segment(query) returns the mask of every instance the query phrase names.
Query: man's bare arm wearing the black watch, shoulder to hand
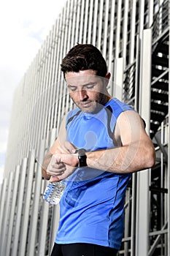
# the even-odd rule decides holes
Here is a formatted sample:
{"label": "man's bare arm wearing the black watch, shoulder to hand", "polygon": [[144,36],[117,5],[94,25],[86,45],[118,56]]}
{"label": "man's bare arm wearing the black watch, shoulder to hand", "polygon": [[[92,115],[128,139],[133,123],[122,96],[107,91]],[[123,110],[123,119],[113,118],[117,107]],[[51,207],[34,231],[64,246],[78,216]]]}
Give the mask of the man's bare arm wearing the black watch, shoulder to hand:
{"label": "man's bare arm wearing the black watch, shoulder to hand", "polygon": [[[155,148],[139,115],[131,110],[117,118],[115,140],[122,146],[87,152],[88,167],[112,173],[133,173],[155,164]],[[60,154],[61,161],[77,166],[77,154]]]}

